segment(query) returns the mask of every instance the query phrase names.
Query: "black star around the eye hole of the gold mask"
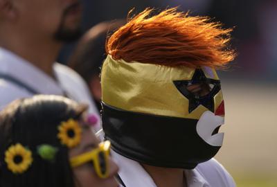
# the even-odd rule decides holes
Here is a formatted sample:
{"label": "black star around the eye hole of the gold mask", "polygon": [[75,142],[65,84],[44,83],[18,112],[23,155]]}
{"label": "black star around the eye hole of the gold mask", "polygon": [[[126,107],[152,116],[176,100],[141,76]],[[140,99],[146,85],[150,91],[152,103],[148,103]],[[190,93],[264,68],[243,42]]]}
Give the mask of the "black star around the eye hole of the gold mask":
{"label": "black star around the eye hole of the gold mask", "polygon": [[[203,105],[211,112],[215,111],[214,98],[215,95],[220,91],[220,80],[214,80],[206,78],[202,69],[195,69],[193,78],[191,80],[174,80],[175,87],[189,100],[188,112],[193,112],[199,105]],[[211,85],[211,90],[205,96],[197,96],[192,92],[188,91],[187,87],[191,84],[202,84],[206,83]]]}

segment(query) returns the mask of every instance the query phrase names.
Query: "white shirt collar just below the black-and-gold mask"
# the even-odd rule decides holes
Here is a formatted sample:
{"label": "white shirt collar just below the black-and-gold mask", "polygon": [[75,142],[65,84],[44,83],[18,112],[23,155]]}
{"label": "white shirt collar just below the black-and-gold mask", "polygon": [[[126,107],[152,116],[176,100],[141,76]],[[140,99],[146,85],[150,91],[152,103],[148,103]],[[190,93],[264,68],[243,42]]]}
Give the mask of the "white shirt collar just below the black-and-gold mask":
{"label": "white shirt collar just below the black-and-gold mask", "polygon": [[[118,175],[123,180],[125,186],[129,187],[157,187],[143,167],[136,161],[127,159],[122,155],[111,151],[113,159],[118,164],[120,170]],[[209,187],[208,182],[195,168],[194,170],[184,170],[188,187]]]}

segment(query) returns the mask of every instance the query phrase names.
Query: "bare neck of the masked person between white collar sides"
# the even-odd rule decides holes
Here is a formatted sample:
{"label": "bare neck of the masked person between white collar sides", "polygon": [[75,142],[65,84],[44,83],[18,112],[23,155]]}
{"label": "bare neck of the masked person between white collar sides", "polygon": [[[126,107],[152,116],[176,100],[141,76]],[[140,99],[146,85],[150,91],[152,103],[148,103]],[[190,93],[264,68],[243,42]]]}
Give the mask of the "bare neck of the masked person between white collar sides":
{"label": "bare neck of the masked person between white collar sides", "polygon": [[187,187],[183,169],[160,168],[142,164],[143,168],[152,177],[157,187]]}

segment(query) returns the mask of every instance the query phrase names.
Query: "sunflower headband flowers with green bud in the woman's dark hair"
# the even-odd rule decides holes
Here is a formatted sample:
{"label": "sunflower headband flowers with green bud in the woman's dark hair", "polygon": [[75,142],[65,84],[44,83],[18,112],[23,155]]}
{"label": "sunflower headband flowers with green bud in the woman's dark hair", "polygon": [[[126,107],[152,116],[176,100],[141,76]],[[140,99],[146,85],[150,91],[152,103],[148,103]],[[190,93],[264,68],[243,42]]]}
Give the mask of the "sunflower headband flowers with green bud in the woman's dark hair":
{"label": "sunflower headband flowers with green bud in the woman's dark hair", "polygon": [[[94,125],[89,121],[90,125]],[[96,121],[94,121],[96,123]],[[58,128],[57,138],[60,139],[62,145],[66,145],[67,148],[74,148],[80,144],[82,129],[78,121],[70,118],[68,121],[60,123]],[[42,144],[37,146],[36,153],[44,160],[55,161],[55,155],[58,148],[53,145]],[[21,174],[26,172],[28,168],[33,163],[33,153],[28,148],[21,145],[21,143],[16,143],[15,145],[10,145],[8,150],[5,152],[5,162],[7,163],[8,170],[14,174]]]}

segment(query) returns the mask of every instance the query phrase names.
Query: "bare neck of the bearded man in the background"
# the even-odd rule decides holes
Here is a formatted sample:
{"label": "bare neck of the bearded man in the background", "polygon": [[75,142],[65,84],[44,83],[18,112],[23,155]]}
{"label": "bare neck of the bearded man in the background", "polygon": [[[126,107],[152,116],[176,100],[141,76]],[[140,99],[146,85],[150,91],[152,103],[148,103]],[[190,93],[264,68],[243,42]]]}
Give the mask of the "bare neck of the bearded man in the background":
{"label": "bare neck of the bearded man in the background", "polygon": [[55,78],[53,64],[57,58],[62,44],[51,41],[51,39],[35,39],[24,37],[5,37],[0,36],[0,46],[12,51],[19,57],[37,66],[47,75]]}

